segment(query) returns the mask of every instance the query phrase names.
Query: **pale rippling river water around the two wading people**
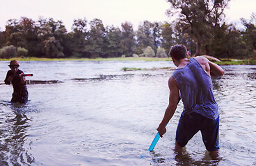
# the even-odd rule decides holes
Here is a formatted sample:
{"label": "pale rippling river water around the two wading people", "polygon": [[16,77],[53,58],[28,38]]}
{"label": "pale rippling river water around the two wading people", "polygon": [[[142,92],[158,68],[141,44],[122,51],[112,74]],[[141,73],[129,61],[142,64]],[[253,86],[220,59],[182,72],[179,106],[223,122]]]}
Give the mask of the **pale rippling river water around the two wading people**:
{"label": "pale rippling river water around the two wading people", "polygon": [[[168,104],[173,62],[19,62],[29,102],[10,103],[13,87],[0,62],[0,165],[256,165],[256,66],[223,66],[213,78],[220,108],[220,158],[200,132],[175,154],[182,102],[154,151],[147,151]],[[143,155],[143,157],[141,157]]]}

